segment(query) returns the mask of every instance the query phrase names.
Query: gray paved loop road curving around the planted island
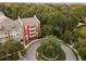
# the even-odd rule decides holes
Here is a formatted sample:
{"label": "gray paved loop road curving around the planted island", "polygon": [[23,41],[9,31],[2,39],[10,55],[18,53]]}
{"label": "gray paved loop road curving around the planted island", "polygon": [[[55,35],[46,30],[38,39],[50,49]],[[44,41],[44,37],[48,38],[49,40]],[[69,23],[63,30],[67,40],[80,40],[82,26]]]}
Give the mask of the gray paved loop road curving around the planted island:
{"label": "gray paved loop road curving around the planted island", "polygon": [[[39,42],[35,42],[30,46],[30,48],[28,48],[28,51],[25,54],[26,61],[36,61],[35,53],[36,53],[36,49],[39,47],[39,44],[40,44]],[[69,47],[66,47],[63,43],[61,44],[61,47],[66,54],[66,61],[76,61],[74,53],[72,52],[72,50]]]}

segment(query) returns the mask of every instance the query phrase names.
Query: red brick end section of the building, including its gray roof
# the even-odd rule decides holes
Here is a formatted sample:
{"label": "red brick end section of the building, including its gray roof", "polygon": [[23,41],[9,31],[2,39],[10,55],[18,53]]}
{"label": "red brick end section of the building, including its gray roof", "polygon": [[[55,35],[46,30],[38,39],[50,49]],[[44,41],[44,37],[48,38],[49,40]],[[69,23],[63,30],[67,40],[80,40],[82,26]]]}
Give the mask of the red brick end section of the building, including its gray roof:
{"label": "red brick end section of the building, including its gray roof", "polygon": [[29,40],[34,37],[38,37],[39,30],[40,30],[40,22],[34,15],[34,17],[27,17],[27,18],[17,18],[22,25],[22,33],[23,33],[23,39]]}

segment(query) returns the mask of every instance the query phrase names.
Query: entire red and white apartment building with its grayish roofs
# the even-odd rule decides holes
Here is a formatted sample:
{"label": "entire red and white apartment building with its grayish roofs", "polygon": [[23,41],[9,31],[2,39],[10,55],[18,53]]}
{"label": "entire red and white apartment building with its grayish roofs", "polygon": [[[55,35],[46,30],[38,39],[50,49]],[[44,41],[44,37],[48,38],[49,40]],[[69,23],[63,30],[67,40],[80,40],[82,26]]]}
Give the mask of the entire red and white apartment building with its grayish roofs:
{"label": "entire red and white apartment building with its grayish roofs", "polygon": [[38,37],[40,22],[34,15],[33,17],[21,18],[13,21],[7,17],[3,13],[0,14],[0,42],[4,42],[9,36],[16,40],[29,40]]}

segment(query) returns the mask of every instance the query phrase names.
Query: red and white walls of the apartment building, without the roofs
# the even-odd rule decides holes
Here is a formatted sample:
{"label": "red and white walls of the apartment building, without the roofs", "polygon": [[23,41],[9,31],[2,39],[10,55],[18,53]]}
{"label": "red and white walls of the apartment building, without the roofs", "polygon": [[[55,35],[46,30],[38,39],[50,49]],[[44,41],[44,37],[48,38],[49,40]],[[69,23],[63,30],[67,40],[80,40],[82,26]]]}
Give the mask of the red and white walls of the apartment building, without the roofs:
{"label": "red and white walls of the apartment building, without the roofs", "polygon": [[[37,23],[35,26],[24,26],[23,29],[12,30],[10,37],[15,40],[29,40],[30,38],[38,37],[40,25]],[[8,39],[8,35],[0,35],[0,42],[3,42]]]}

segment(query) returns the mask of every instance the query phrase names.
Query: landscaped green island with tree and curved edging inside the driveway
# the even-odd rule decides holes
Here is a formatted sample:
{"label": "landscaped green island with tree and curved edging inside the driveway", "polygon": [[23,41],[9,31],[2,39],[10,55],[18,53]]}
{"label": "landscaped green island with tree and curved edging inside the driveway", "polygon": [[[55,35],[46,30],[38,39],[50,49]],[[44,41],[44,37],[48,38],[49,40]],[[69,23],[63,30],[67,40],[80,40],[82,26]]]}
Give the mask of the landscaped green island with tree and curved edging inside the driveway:
{"label": "landscaped green island with tree and curved edging inside the driveway", "polygon": [[62,41],[53,36],[44,38],[37,49],[36,57],[39,61],[64,61],[65,53],[61,48]]}

